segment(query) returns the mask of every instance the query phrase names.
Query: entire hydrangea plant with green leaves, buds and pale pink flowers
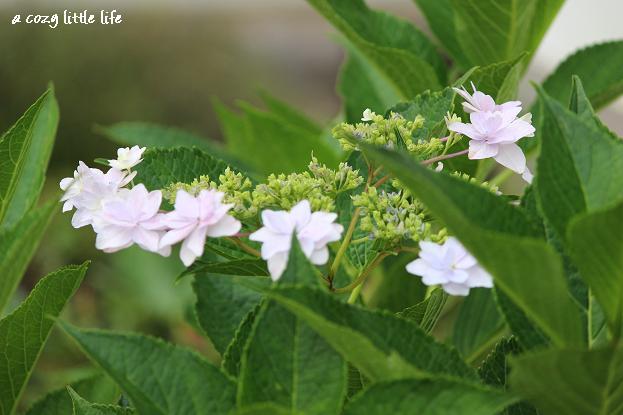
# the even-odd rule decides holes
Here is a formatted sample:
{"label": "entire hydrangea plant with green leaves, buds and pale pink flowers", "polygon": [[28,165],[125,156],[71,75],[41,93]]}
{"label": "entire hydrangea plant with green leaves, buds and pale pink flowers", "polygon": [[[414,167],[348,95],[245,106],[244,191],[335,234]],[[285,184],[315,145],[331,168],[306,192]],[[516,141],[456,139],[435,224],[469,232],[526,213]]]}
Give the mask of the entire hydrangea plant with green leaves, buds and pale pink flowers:
{"label": "entire hydrangea plant with green leaves, buds and pale pink flowers", "polygon": [[[309,3],[348,50],[336,125],[217,102],[224,146],[121,123],[116,158],[60,183],[98,249],[179,255],[220,361],[50,319],[87,268],[69,266],[0,320],[0,414],[54,324],[114,392],[85,379],[29,414],[622,414],[623,143],[595,110],[623,92],[623,42],[524,110],[562,1],[416,0],[442,51],[360,0]],[[58,206],[37,204],[57,121],[50,90],[0,139],[3,307]]]}

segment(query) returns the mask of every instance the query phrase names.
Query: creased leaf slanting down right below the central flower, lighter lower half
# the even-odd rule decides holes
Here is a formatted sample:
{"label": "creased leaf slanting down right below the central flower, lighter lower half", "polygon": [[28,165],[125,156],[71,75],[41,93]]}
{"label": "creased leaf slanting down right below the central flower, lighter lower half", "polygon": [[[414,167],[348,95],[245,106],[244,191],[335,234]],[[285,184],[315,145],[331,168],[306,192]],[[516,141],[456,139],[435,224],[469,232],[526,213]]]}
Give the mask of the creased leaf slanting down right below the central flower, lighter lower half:
{"label": "creased leaf slanting down right below the central flower, lighter lower half", "polygon": [[436,374],[472,380],[476,377],[455,350],[437,343],[412,321],[345,304],[311,287],[263,291],[305,321],[373,381]]}

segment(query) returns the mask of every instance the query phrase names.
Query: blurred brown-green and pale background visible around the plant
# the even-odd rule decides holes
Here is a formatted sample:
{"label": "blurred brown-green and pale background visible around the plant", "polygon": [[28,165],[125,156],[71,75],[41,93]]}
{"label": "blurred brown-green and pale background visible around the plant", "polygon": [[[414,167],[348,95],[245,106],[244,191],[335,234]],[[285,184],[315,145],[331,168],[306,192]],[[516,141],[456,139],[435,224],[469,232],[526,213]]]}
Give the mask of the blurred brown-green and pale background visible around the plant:
{"label": "blurred brown-green and pale background visible around the plant", "polygon": [[[410,0],[373,6],[413,21],[429,33]],[[11,25],[17,14],[63,9],[118,9],[117,26]],[[623,38],[617,0],[568,0],[528,71],[542,80],[579,47]],[[581,30],[579,29],[581,28]],[[266,89],[312,118],[329,122],[339,112],[334,92],[343,53],[329,25],[302,0],[0,0],[0,128],[8,128],[53,81],[61,108],[45,197],[58,197],[58,180],[77,160],[113,157],[115,146],[94,125],[152,121],[219,139],[211,99],[259,103]],[[526,83],[521,95],[534,94]],[[259,105],[259,104],[258,104]],[[602,112],[623,132],[621,101]],[[88,229],[74,230],[67,215],[50,227],[17,303],[45,273],[92,259],[87,280],[67,310],[84,327],[138,330],[199,348],[211,347],[188,323],[194,301],[189,281],[175,283],[181,266],[130,249],[102,255]],[[0,276],[2,278],[2,276]],[[86,362],[55,331],[30,383],[27,400],[78,376]]]}

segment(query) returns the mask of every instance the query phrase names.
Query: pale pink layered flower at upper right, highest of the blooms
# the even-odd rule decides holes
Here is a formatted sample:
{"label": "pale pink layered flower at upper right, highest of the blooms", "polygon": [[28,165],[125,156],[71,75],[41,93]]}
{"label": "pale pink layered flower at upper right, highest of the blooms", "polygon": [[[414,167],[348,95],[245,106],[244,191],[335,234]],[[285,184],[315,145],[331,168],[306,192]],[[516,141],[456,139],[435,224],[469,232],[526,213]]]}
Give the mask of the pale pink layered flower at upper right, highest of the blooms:
{"label": "pale pink layered flower at upper right, highest of the blooms", "polygon": [[523,137],[533,137],[534,127],[530,113],[518,118],[521,102],[509,101],[496,104],[491,96],[476,90],[455,88],[466,101],[465,112],[469,113],[470,123],[453,121],[448,129],[470,138],[468,157],[472,160],[493,157],[495,161],[522,175],[527,182],[532,181],[532,173],[526,166],[526,157],[515,144]]}

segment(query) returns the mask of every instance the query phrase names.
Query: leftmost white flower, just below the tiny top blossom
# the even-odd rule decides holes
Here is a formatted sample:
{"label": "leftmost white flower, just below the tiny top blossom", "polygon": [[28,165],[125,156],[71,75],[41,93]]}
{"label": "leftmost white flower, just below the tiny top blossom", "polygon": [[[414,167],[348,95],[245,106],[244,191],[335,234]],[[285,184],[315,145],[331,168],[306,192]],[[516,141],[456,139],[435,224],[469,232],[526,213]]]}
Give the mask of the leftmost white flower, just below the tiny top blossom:
{"label": "leftmost white flower, just below the tiny top blossom", "polygon": [[119,189],[128,184],[136,172],[128,175],[117,169],[106,173],[90,168],[80,162],[74,177],[61,180],[60,187],[65,191],[61,197],[63,212],[76,208],[71,224],[74,228],[90,225],[99,214],[102,203],[116,196]]}

